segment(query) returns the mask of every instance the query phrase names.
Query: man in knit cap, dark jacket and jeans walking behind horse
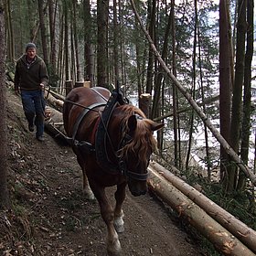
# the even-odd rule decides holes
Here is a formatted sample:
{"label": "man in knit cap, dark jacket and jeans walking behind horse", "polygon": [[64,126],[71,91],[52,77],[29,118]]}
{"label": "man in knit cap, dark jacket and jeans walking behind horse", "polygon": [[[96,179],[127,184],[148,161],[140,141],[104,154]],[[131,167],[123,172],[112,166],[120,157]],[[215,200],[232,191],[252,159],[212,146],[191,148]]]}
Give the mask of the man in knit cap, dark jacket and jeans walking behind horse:
{"label": "man in knit cap, dark jacket and jeans walking behind horse", "polygon": [[44,88],[48,84],[48,70],[43,59],[37,56],[34,43],[28,43],[26,53],[16,62],[15,91],[21,94],[28,130],[37,127],[37,140],[44,140]]}

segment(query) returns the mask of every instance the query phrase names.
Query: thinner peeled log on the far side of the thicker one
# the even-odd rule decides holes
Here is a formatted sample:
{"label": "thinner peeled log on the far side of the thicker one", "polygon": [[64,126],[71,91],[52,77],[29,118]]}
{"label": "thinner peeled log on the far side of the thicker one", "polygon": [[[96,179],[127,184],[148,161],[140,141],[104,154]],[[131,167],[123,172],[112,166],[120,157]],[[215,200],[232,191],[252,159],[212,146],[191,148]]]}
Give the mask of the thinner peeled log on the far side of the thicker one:
{"label": "thinner peeled log on the far side of the thicker one", "polygon": [[[245,244],[251,251],[256,254],[256,231],[248,227],[246,224],[236,219],[228,211],[220,208],[219,205],[211,201],[208,197],[197,191],[194,187],[189,186],[185,181],[179,177],[173,175],[166,170],[162,165],[155,162],[150,163],[150,167],[153,168],[158,174],[164,176],[165,179],[191,199],[200,208],[204,209],[208,215],[219,222],[221,226],[228,229],[236,238],[238,238],[243,244]],[[176,168],[173,167],[176,172]]]}

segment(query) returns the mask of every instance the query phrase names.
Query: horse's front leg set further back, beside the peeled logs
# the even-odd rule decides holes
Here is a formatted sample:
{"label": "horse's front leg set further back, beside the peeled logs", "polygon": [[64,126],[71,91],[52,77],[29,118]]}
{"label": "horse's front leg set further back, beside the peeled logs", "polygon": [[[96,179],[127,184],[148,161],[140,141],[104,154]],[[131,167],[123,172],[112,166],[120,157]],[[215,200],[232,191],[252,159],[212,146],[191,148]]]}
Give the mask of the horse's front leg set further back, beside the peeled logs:
{"label": "horse's front leg set further back, beside the peeled logs", "polygon": [[115,197],[115,208],[114,208],[114,227],[118,233],[122,233],[124,231],[123,226],[123,201],[125,199],[125,187],[126,183],[122,183],[117,186],[117,189],[114,193]]}

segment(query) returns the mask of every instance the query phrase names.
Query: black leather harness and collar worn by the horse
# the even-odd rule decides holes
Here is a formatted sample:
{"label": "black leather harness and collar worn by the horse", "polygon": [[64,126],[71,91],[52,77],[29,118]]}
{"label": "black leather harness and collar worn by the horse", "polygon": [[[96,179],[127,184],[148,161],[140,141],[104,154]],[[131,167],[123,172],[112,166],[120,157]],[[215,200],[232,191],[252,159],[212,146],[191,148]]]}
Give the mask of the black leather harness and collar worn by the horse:
{"label": "black leather harness and collar worn by the horse", "polygon": [[[98,91],[95,91],[99,93]],[[107,100],[106,100],[107,101]],[[141,180],[144,181],[147,179],[148,172],[144,174],[135,173],[133,171],[128,170],[125,161],[122,157],[119,157],[115,154],[117,158],[117,163],[112,163],[112,161],[109,158],[109,155],[107,154],[107,142],[111,142],[111,139],[109,137],[109,133],[107,131],[108,124],[110,122],[112,112],[114,108],[118,105],[128,104],[129,101],[123,97],[122,91],[120,91],[118,88],[112,91],[112,95],[110,99],[106,103],[97,102],[94,104],[91,104],[89,107],[84,107],[84,110],[80,113],[79,118],[77,119],[76,123],[74,124],[73,131],[72,131],[72,137],[66,137],[69,144],[72,146],[75,146],[80,149],[80,151],[85,152],[86,154],[95,153],[96,159],[98,164],[101,166],[103,170],[109,170],[108,172],[112,175],[121,174],[125,176],[132,177],[135,180]],[[96,123],[94,124],[93,131],[92,131],[92,137],[94,137],[95,134],[95,143],[94,145],[90,142],[86,141],[78,141],[75,137],[78,132],[78,129],[80,127],[80,123],[84,120],[85,116],[88,112],[96,111],[96,108],[104,107],[102,112],[100,113],[100,116]],[[138,119],[142,119],[141,116],[137,117]],[[132,137],[128,133],[123,134],[123,138],[119,144],[119,148],[123,148],[126,144],[129,144],[132,141]],[[113,152],[113,146],[112,146]]]}

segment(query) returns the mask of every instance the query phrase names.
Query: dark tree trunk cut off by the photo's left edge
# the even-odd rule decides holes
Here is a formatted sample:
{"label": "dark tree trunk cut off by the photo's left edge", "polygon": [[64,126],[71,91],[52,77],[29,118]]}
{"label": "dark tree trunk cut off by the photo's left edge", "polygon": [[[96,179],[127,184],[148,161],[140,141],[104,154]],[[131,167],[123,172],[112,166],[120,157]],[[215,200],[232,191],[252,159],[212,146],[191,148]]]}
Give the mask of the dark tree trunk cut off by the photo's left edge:
{"label": "dark tree trunk cut off by the photo's left edge", "polygon": [[7,111],[6,111],[6,86],[5,86],[5,6],[0,0],[0,208],[9,207],[7,189]]}

